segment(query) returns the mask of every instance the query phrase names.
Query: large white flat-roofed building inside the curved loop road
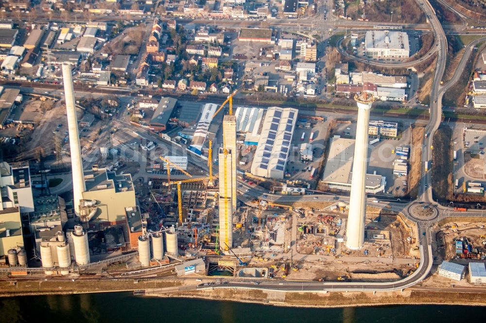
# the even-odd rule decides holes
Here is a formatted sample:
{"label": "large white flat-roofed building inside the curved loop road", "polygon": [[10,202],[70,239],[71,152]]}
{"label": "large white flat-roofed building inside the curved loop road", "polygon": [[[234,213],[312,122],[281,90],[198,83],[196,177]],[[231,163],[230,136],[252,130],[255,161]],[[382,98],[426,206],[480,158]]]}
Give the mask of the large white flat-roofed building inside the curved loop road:
{"label": "large white flat-roofed building inside the curved loop road", "polygon": [[366,56],[374,58],[408,58],[410,45],[406,32],[369,31],[365,36]]}

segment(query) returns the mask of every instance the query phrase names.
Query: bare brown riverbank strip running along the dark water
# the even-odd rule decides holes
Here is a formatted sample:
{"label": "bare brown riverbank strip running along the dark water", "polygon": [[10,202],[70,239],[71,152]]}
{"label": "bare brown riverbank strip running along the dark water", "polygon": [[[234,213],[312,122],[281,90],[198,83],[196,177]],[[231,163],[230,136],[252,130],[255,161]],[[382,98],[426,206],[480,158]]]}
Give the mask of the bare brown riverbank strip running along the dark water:
{"label": "bare brown riverbank strip running along the dark water", "polygon": [[[110,280],[110,281],[17,281],[0,282],[0,297],[34,295],[72,295],[81,293],[107,293],[120,291],[151,290],[181,286],[177,280]],[[145,297],[204,299],[273,305],[278,307],[377,307],[383,305],[468,305],[486,306],[485,293],[457,291],[403,292],[284,292],[256,289],[207,289],[200,291],[167,292]]]}

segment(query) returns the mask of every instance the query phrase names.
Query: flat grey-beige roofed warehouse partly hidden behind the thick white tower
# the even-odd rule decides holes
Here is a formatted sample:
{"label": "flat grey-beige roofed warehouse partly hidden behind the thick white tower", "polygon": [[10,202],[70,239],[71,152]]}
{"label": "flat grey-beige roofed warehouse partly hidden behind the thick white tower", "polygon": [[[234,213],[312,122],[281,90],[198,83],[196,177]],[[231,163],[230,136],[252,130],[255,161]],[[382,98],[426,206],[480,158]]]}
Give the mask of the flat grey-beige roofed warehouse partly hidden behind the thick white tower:
{"label": "flat grey-beige roofed warehouse partly hidden behind the thick white tower", "polygon": [[[322,180],[329,188],[351,191],[354,139],[335,135],[330,139],[329,155]],[[366,174],[366,193],[379,193],[385,189],[385,177]]]}

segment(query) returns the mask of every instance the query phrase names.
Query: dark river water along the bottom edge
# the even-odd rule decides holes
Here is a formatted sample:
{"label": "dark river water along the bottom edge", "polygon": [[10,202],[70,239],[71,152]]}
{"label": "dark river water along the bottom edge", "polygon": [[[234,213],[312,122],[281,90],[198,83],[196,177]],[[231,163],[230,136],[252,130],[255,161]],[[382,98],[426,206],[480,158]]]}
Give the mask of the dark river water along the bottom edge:
{"label": "dark river water along the bottom edge", "polygon": [[[0,322],[484,322],[486,307],[387,306],[293,308],[132,293],[22,296],[0,299]],[[483,317],[483,319],[481,319]]]}

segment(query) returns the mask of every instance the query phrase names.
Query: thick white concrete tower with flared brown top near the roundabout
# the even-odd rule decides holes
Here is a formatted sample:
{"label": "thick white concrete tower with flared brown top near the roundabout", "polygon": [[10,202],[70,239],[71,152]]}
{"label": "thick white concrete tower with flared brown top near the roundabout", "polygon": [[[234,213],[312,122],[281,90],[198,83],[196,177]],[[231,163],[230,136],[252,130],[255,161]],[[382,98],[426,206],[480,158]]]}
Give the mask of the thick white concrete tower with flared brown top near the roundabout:
{"label": "thick white concrete tower with flared brown top near the roundabout", "polygon": [[351,196],[347,217],[346,246],[360,249],[364,243],[364,219],[366,215],[366,163],[368,157],[369,112],[375,98],[368,93],[354,97],[358,105],[358,124],[354,145],[353,175],[351,178]]}

